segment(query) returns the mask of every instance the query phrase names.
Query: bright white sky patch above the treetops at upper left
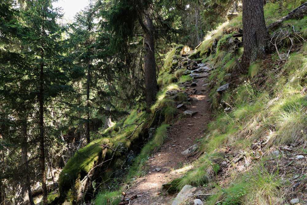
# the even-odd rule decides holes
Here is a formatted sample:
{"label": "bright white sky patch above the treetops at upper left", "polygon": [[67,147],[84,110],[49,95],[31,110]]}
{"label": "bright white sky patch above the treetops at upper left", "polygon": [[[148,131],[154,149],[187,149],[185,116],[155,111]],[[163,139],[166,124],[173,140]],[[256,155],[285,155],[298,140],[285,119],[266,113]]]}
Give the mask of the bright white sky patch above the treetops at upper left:
{"label": "bright white sky patch above the treetops at upper left", "polygon": [[65,20],[73,20],[76,13],[89,4],[88,0],[58,0],[53,2],[54,8],[61,7]]}

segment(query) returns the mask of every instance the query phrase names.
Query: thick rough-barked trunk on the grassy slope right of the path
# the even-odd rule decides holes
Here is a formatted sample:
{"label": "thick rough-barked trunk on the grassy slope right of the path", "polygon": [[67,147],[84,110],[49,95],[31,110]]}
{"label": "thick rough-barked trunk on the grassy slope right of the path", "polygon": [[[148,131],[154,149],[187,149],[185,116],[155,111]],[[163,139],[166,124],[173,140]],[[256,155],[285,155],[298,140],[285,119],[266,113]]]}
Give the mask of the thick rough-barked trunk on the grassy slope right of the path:
{"label": "thick rough-barked trunk on the grassy slope right of the path", "polygon": [[262,0],[243,0],[242,23],[244,53],[241,63],[247,68],[250,62],[266,52],[269,43]]}

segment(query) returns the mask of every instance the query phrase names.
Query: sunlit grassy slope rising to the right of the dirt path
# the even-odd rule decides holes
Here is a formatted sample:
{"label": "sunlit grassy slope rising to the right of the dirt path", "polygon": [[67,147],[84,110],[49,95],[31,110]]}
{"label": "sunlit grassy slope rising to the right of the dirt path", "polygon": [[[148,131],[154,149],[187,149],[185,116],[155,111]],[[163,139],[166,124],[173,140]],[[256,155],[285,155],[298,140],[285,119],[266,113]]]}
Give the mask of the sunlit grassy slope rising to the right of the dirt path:
{"label": "sunlit grassy slope rising to the right of the dirt path", "polygon": [[[280,7],[278,2],[267,3],[264,7],[267,24],[286,15],[289,12],[287,9],[291,10],[299,4],[288,1]],[[306,37],[305,20],[289,20],[283,26],[293,25]],[[223,205],[276,204],[275,199],[289,199],[289,190],[286,189],[289,182],[281,180],[278,166],[277,171],[269,171],[271,161],[268,153],[275,147],[287,144],[300,145],[299,151],[307,152],[307,98],[304,87],[307,79],[307,44],[297,46],[285,64],[279,63],[277,54],[273,53],[266,60],[252,64],[248,74],[234,76],[235,59],[230,52],[217,49],[208,57],[206,53],[215,39],[224,41],[223,31],[232,27],[242,28],[241,21],[242,14],[239,14],[237,18],[224,23],[212,35],[208,35],[198,48],[204,62],[216,67],[209,78],[216,120],[208,125],[207,134],[204,135],[201,148],[204,154],[194,162],[194,168],[175,179],[170,186],[176,191],[185,184],[209,186],[210,192],[217,194],[209,197],[207,204],[217,201]],[[227,41],[220,44],[227,44]],[[289,42],[285,42],[279,52],[286,53],[288,45]],[[239,50],[237,58],[242,54],[243,49]],[[232,82],[236,85],[231,85],[231,90],[222,96],[216,93],[218,87],[234,78],[239,79]],[[231,111],[225,112],[224,108],[231,108]],[[267,141],[259,151],[262,157],[261,154],[255,156],[251,145],[261,140]],[[225,158],[232,162],[238,158],[236,153],[240,151],[246,152],[246,157],[251,159],[249,168],[238,171],[232,163],[228,177],[217,174],[216,159]],[[293,176],[291,171],[287,173],[285,178]],[[225,177],[227,180],[223,181]]]}

